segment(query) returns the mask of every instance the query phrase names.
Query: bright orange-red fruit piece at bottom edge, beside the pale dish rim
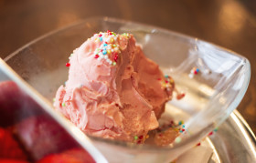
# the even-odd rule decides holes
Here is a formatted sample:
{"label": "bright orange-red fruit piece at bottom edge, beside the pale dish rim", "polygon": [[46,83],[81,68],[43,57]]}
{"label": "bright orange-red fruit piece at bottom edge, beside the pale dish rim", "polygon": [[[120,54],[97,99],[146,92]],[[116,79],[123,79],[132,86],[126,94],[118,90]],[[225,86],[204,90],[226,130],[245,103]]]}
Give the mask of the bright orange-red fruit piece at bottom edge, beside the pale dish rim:
{"label": "bright orange-red fruit piece at bottom edge, beside the pale dish rim", "polygon": [[91,156],[80,148],[74,148],[62,152],[60,154],[51,154],[48,157],[42,158],[37,163],[94,163]]}

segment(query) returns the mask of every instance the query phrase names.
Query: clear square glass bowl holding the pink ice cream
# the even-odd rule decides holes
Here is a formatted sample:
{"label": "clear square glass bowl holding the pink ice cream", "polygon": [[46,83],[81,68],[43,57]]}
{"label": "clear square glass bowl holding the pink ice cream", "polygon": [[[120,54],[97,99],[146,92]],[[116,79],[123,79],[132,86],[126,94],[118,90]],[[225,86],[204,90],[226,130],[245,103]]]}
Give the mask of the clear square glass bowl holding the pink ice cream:
{"label": "clear square glass bowl holding the pink ice cream", "polygon": [[133,34],[144,54],[165,75],[172,76],[177,89],[186,94],[183,99],[173,99],[165,105],[162,117],[183,120],[186,130],[179,141],[167,147],[91,138],[111,162],[167,162],[177,158],[229,117],[247,90],[251,67],[245,57],[197,38],[108,17],[89,18],[42,36],[7,56],[5,62],[51,101],[68,79],[69,68],[65,63],[73,49],[93,34],[107,30]]}

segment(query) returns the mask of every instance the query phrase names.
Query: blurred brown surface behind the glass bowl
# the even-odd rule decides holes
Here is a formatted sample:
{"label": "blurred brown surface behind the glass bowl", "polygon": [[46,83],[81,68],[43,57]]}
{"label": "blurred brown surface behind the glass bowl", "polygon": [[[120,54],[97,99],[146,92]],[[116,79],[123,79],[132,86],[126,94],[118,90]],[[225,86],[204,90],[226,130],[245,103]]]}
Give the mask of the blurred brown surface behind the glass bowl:
{"label": "blurred brown surface behind the glass bowl", "polygon": [[238,110],[256,133],[255,0],[0,0],[0,57],[97,15],[164,27],[247,57],[251,84]]}

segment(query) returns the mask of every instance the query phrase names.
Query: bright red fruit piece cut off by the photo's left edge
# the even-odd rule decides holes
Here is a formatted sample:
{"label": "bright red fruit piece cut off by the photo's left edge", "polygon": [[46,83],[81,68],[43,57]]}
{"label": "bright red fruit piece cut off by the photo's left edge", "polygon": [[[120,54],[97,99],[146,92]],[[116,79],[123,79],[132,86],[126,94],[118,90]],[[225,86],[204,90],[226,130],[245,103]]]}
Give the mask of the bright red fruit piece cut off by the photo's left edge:
{"label": "bright red fruit piece cut off by the photo's left edge", "polygon": [[26,154],[12,137],[11,132],[2,127],[0,127],[0,146],[0,158],[27,159]]}

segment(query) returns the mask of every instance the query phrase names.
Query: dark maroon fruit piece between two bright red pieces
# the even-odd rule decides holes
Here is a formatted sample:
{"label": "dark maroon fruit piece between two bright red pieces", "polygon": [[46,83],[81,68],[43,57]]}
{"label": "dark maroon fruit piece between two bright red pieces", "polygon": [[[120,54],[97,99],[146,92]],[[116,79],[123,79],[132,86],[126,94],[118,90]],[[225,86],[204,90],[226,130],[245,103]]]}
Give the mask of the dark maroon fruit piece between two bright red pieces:
{"label": "dark maroon fruit piece between two bright red pieces", "polygon": [[16,137],[33,160],[80,145],[59,124],[48,116],[29,117],[16,124]]}

